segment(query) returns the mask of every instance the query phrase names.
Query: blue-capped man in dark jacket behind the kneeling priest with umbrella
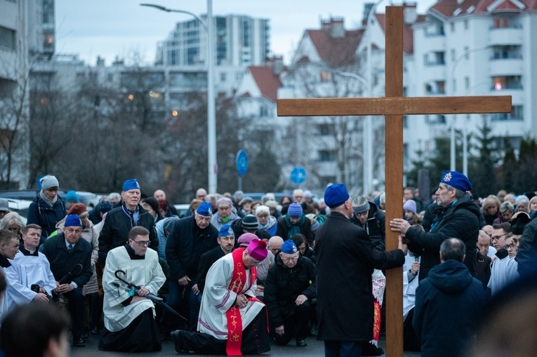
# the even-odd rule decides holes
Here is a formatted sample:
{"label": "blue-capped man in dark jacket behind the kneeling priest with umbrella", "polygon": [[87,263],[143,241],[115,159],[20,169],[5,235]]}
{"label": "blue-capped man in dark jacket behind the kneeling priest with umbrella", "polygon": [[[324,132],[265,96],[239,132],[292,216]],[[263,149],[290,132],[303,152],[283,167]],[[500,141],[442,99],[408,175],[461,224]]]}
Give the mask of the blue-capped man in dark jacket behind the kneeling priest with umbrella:
{"label": "blue-capped man in dark jacket behind the kneeling priest with umbrella", "polygon": [[128,241],[132,227],[144,227],[150,232],[151,248],[159,248],[159,239],[154,229],[154,218],[140,205],[138,180],[126,180],[121,191],[123,205],[111,210],[99,236],[99,261],[104,264],[109,250],[123,246]]}

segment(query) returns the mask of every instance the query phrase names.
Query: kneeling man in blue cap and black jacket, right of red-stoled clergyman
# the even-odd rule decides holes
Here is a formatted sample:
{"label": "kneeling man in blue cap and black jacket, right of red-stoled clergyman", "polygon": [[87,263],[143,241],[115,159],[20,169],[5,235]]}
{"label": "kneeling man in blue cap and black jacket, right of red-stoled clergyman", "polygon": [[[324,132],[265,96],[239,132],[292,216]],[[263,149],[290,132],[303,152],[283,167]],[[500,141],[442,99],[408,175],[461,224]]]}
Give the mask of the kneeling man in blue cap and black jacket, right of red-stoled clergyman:
{"label": "kneeling man in blue cap and black jacket, right of red-stoled clergyman", "polygon": [[300,255],[293,241],[281,245],[265,281],[265,297],[271,323],[271,336],[276,344],[307,346],[310,304],[317,297],[315,265]]}

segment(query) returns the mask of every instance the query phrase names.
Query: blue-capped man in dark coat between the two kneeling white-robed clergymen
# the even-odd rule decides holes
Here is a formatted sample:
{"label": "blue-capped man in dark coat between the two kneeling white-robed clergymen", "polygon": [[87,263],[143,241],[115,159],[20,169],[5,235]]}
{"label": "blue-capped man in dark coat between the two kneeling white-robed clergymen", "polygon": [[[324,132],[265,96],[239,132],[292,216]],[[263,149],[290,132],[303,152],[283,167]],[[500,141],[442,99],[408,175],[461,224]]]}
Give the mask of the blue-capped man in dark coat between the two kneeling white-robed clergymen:
{"label": "blue-capped man in dark coat between the two kneeling white-robed clergymen", "polygon": [[189,292],[201,255],[218,245],[218,229],[211,224],[212,216],[211,204],[201,203],[193,216],[173,222],[166,242],[166,262],[170,267],[166,304],[183,316],[188,316]]}

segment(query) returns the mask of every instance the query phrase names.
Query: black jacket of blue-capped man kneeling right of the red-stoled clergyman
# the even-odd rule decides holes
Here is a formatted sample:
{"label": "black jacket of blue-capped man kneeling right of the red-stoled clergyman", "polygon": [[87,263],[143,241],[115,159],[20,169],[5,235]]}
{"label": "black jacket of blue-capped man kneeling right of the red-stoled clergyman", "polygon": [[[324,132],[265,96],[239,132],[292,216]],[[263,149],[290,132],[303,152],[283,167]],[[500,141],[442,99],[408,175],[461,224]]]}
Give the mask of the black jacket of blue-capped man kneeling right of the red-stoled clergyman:
{"label": "black jacket of blue-capped man kneeling right of the red-stoled clergyman", "polygon": [[279,255],[275,257],[265,281],[263,298],[274,327],[284,325],[284,318],[293,314],[298,295],[305,295],[310,302],[317,297],[316,275],[315,265],[306,257],[299,256],[292,268],[286,267]]}

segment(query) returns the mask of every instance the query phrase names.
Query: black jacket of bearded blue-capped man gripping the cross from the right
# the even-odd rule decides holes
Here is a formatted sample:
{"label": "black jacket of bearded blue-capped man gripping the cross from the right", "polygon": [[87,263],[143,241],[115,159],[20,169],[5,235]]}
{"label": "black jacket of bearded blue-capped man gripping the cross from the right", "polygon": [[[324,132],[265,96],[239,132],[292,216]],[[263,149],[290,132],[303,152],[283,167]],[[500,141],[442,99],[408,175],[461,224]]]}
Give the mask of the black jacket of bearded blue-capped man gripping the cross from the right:
{"label": "black jacket of bearded blue-capped man gripping the cross from the right", "polygon": [[415,227],[406,231],[409,250],[421,256],[420,281],[427,278],[432,267],[440,264],[440,245],[447,238],[459,238],[466,245],[464,264],[472,276],[477,276],[477,236],[481,212],[469,194],[458,198],[448,207],[437,206],[430,231]]}

